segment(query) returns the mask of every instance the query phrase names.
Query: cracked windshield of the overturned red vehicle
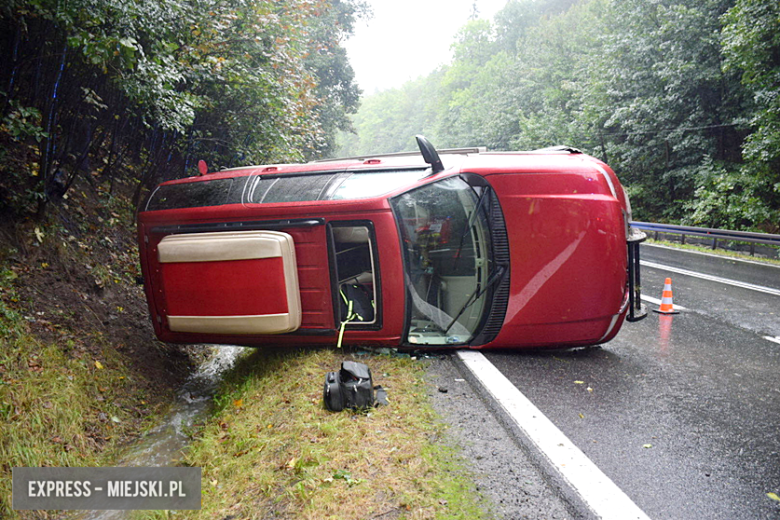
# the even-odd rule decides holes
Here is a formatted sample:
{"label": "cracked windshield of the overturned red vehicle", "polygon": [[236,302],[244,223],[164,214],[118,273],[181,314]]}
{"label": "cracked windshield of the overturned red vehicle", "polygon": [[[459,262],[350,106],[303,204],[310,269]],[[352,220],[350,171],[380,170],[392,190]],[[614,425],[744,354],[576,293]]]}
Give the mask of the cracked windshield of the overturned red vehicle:
{"label": "cracked windshield of the overturned red vehicle", "polygon": [[407,342],[467,343],[482,323],[500,276],[484,203],[489,189],[452,177],[392,200],[412,303]]}

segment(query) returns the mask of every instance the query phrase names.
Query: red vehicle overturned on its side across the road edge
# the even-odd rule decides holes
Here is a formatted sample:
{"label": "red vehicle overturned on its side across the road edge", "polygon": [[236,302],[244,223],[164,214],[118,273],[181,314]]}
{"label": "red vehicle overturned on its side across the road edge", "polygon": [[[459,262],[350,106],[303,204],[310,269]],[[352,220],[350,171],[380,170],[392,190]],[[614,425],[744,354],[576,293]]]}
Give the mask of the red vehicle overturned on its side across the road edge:
{"label": "red vehicle overturned on its side across the road edge", "polygon": [[593,345],[646,315],[620,182],[571,148],[248,166],[138,214],[157,336],[401,348]]}

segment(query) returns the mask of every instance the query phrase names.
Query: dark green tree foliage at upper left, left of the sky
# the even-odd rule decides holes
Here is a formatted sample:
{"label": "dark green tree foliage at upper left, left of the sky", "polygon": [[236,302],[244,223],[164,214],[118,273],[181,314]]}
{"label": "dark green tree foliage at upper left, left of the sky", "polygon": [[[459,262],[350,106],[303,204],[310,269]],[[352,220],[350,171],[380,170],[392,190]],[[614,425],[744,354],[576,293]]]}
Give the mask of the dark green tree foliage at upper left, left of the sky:
{"label": "dark green tree foliage at upper left, left of the sky", "polygon": [[40,215],[77,176],[109,179],[128,161],[140,196],[198,159],[327,153],[357,107],[340,42],[365,13],[361,0],[4,4],[0,139],[39,143],[39,175],[4,186],[0,204],[32,209],[19,207],[30,192]]}

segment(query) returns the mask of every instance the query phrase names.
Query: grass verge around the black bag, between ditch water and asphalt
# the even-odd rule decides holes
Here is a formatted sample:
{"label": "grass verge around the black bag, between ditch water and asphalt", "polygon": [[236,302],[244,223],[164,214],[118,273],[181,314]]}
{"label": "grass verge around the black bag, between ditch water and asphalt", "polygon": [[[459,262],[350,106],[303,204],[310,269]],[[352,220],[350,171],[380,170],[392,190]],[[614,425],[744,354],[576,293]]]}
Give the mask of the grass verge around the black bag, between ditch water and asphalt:
{"label": "grass verge around the black bag, between ditch water and asphalt", "polygon": [[424,362],[361,358],[388,390],[389,406],[328,412],[324,376],[346,358],[333,350],[258,351],[240,362],[182,461],[202,468],[202,510],[170,516],[484,518],[463,463],[442,441]]}

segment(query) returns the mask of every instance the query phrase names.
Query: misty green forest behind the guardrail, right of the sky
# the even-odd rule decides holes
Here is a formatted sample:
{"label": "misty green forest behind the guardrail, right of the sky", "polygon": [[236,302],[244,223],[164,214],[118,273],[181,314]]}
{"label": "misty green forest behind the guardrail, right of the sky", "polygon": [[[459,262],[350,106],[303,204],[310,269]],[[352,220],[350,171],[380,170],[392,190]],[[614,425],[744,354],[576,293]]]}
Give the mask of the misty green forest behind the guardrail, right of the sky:
{"label": "misty green forest behind the guardrail, right of the sky", "polygon": [[566,144],[616,170],[637,220],[780,231],[775,0],[510,0],[452,54],[363,99],[339,154]]}

